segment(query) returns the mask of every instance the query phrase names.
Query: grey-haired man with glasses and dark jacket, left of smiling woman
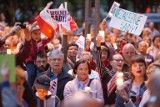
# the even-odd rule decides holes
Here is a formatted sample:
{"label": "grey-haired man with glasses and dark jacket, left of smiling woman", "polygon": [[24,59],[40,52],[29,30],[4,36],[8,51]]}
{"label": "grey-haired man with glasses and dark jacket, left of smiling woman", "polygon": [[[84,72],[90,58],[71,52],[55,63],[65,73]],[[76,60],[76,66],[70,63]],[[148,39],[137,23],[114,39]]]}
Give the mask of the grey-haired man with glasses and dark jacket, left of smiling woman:
{"label": "grey-haired man with glasses and dark jacket, left of smiling woman", "polygon": [[64,54],[60,50],[53,50],[48,54],[50,68],[45,72],[50,77],[50,91],[63,100],[63,91],[66,83],[72,76],[63,68]]}

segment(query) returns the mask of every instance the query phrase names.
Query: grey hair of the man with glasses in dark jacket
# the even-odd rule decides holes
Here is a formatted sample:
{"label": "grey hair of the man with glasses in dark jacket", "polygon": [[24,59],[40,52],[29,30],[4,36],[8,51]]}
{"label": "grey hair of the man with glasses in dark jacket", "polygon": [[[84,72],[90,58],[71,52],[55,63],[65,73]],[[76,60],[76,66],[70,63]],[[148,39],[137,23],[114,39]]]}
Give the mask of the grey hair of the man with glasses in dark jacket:
{"label": "grey hair of the man with glasses in dark jacket", "polygon": [[64,60],[64,54],[60,50],[52,50],[51,52],[48,53],[48,59],[52,59],[53,56],[61,55],[61,59]]}

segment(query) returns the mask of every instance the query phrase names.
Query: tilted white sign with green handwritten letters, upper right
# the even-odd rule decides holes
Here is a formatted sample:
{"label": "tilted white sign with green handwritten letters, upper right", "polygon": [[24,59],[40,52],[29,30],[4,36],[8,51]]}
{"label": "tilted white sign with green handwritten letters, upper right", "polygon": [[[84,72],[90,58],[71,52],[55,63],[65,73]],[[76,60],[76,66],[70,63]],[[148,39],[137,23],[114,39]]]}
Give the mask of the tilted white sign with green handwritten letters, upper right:
{"label": "tilted white sign with green handwritten letters, upper right", "polygon": [[110,27],[117,28],[121,31],[128,31],[131,34],[140,35],[147,16],[116,8],[112,16]]}

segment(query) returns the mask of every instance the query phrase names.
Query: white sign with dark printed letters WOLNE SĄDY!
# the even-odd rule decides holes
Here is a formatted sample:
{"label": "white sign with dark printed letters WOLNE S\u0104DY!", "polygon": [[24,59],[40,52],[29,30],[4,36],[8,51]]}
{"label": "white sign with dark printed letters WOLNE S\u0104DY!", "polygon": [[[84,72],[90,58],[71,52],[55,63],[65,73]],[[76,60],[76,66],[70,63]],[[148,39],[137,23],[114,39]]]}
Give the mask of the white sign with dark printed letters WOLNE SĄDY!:
{"label": "white sign with dark printed letters WOLNE S\u0104DY!", "polygon": [[59,24],[67,23],[67,9],[48,9],[48,12]]}

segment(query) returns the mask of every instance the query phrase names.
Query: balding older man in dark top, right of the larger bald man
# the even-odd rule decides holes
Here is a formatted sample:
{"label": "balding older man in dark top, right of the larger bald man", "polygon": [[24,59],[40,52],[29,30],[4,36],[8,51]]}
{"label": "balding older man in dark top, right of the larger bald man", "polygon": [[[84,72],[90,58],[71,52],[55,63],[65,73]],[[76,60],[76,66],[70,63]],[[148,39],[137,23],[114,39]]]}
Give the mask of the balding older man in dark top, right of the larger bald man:
{"label": "balding older man in dark top, right of the larger bald man", "polygon": [[147,54],[147,49],[148,43],[144,41],[139,43],[138,52],[145,57],[146,64],[149,65],[150,63],[154,62],[154,58],[150,54]]}

